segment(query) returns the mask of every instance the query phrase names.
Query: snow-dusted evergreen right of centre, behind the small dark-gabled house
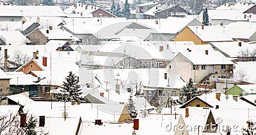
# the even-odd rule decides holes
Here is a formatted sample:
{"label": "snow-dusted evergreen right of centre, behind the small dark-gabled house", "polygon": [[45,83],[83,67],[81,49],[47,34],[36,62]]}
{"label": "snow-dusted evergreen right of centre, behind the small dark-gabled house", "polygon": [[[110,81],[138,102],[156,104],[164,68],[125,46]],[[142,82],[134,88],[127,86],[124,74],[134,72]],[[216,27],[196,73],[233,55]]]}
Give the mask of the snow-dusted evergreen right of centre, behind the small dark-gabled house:
{"label": "snow-dusted evergreen right of centre, behind the small dark-gabled house", "polygon": [[180,91],[180,96],[179,96],[179,100],[177,100],[177,103],[180,103],[180,104],[186,103],[188,92],[191,92],[191,98],[200,95],[200,91],[193,84],[192,78],[189,78],[189,82],[187,82],[186,86],[184,86]]}

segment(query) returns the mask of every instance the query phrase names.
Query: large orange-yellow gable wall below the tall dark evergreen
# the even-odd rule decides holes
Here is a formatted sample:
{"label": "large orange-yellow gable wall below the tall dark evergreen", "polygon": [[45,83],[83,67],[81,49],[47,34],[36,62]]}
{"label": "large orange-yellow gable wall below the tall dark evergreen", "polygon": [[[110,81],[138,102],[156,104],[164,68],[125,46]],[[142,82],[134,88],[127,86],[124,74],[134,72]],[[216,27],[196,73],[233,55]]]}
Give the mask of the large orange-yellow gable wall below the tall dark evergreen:
{"label": "large orange-yellow gable wall below the tall dark evergreen", "polygon": [[183,29],[175,38],[174,41],[193,41],[195,45],[205,45],[209,42],[204,42],[200,38],[198,38],[188,27]]}

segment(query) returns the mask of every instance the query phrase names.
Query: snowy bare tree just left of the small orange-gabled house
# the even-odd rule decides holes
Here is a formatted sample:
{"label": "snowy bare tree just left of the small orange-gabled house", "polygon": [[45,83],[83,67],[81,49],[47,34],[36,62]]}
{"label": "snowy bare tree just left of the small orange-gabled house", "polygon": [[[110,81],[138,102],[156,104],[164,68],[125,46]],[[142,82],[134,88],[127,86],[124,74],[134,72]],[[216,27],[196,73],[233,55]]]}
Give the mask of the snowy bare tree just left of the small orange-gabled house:
{"label": "snowy bare tree just left of the small orange-gabled house", "polygon": [[22,53],[20,50],[15,50],[13,60],[18,66],[22,66],[29,59],[30,57],[26,53]]}

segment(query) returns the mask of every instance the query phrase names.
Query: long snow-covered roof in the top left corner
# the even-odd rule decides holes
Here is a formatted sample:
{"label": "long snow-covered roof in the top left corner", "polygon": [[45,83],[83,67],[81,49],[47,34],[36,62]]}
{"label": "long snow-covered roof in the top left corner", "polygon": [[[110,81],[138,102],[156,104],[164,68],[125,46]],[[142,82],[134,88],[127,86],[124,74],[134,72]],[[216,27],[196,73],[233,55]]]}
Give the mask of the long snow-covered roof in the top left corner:
{"label": "long snow-covered roof in the top left corner", "polygon": [[1,16],[21,17],[21,16],[49,16],[64,17],[60,6],[1,6]]}

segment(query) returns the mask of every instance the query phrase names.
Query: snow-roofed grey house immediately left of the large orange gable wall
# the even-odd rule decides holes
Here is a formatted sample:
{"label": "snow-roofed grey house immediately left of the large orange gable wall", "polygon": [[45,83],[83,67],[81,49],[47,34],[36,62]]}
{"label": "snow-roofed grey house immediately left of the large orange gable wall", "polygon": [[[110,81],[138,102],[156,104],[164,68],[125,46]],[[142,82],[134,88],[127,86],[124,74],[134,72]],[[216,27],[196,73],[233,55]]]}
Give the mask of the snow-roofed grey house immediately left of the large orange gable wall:
{"label": "snow-roofed grey house immediately left of the large orange gable wall", "polygon": [[159,24],[157,32],[150,32],[152,35],[149,38],[151,41],[172,41],[184,27],[202,25],[196,18],[168,17],[165,20],[156,20]]}

